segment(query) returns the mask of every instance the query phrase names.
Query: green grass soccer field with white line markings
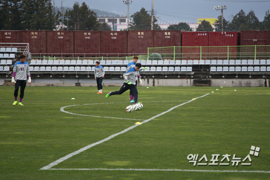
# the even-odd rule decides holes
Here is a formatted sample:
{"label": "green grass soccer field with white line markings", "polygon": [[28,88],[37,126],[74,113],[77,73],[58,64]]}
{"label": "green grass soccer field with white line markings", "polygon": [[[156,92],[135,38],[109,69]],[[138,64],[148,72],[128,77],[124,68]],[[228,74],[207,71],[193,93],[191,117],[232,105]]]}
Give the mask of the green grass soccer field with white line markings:
{"label": "green grass soccer field with white line markings", "polygon": [[269,88],[119,89],[0,86],[0,180],[270,180]]}

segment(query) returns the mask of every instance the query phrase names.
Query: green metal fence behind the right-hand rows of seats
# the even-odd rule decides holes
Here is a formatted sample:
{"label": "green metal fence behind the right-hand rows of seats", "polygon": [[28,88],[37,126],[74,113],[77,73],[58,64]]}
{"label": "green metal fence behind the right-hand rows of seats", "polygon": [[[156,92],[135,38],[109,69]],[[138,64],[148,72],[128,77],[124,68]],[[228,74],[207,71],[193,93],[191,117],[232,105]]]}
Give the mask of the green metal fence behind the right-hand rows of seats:
{"label": "green metal fence behind the right-hand rows of seats", "polygon": [[215,46],[148,48],[148,56],[159,53],[162,59],[270,59],[270,46]]}

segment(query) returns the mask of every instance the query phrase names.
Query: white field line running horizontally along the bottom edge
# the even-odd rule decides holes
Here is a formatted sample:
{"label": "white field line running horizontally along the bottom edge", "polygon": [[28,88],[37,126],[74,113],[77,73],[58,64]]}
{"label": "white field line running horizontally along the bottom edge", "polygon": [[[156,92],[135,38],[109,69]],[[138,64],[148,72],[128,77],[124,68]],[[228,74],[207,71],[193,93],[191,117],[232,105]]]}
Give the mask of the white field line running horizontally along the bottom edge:
{"label": "white field line running horizontally along the bottom edge", "polygon": [[78,170],[78,171],[184,171],[184,172],[221,172],[221,173],[270,173],[270,171],[230,171],[230,170],[189,170],[189,169],[105,169],[105,168],[94,168],[94,169],[54,169],[49,170]]}

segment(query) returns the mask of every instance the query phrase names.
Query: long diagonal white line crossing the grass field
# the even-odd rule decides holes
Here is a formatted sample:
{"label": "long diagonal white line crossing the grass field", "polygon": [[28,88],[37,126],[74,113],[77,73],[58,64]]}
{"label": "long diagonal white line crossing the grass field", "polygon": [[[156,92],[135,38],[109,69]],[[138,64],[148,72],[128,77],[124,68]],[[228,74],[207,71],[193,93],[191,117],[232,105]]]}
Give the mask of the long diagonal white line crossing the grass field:
{"label": "long diagonal white line crossing the grass field", "polygon": [[[209,94],[203,95],[203,96],[198,97],[198,98],[202,98],[202,97],[205,97],[205,96],[207,96],[207,95],[209,95]],[[184,105],[184,104],[190,103],[190,102],[192,102],[192,101],[194,101],[194,100],[196,100],[196,99],[198,99],[198,98],[194,98],[194,99],[192,99],[192,100],[190,100],[190,101],[188,101],[188,102],[186,102],[186,103],[182,103],[182,104],[179,104],[179,105],[177,105],[177,106],[174,106],[174,107],[170,108],[169,110],[167,110],[167,111],[165,111],[165,112],[162,112],[161,114],[158,114],[158,115],[156,115],[156,116],[154,116],[154,117],[152,117],[152,118],[150,118],[150,119],[147,119],[147,120],[141,122],[141,124],[147,123],[147,122],[151,121],[151,120],[154,119],[154,118],[157,118],[157,117],[159,117],[159,116],[161,116],[161,115],[163,115],[163,114],[165,114],[165,113],[167,113],[167,112],[172,111],[173,109],[175,109],[175,108],[177,108],[177,107],[179,107],[179,106],[182,106],[182,105]],[[140,125],[141,125],[141,124],[140,124]],[[70,157],[72,157],[72,156],[74,156],[74,155],[76,155],[76,154],[80,154],[81,152],[83,152],[83,151],[85,151],[85,150],[88,150],[89,148],[92,148],[93,146],[96,146],[96,145],[101,144],[101,143],[103,143],[103,142],[105,142],[105,141],[108,141],[108,140],[114,138],[115,136],[117,136],[117,135],[119,135],[119,134],[123,134],[123,133],[125,133],[125,132],[127,132],[127,131],[129,131],[129,130],[131,130],[131,129],[136,128],[137,126],[140,126],[140,125],[133,125],[133,126],[127,128],[127,129],[122,130],[121,132],[118,132],[118,133],[116,133],[116,134],[112,134],[112,135],[110,135],[109,137],[107,137],[107,138],[105,138],[105,139],[103,139],[103,140],[101,140],[101,141],[98,141],[98,142],[96,142],[96,143],[93,143],[93,144],[90,144],[90,145],[88,145],[88,146],[85,146],[85,147],[81,148],[80,150],[75,151],[75,152],[73,152],[73,153],[71,153],[71,154],[67,154],[66,156],[61,157],[60,159],[58,159],[58,160],[52,162],[51,164],[49,164],[49,165],[47,165],[47,166],[44,166],[44,167],[41,168],[40,170],[49,170],[49,169],[52,168],[53,166],[55,166],[55,165],[57,165],[57,164],[63,162],[64,160],[67,160],[68,158],[70,158]]]}

